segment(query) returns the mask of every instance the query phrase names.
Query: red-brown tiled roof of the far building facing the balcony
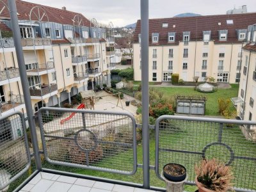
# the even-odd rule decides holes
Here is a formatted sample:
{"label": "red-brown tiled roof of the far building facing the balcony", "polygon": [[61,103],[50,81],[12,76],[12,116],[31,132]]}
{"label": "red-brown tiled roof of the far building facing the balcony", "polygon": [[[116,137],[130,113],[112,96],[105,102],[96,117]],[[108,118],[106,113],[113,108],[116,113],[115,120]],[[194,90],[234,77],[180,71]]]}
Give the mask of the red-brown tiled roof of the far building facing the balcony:
{"label": "red-brown tiled roof of the far building facing the balcony", "polygon": [[[233,20],[233,24],[227,24],[227,20]],[[168,28],[163,28],[163,23],[168,23]],[[175,44],[179,44],[179,41],[182,41],[184,31],[190,31],[191,41],[202,40],[203,31],[211,31],[211,40],[216,43],[240,43],[237,39],[236,29],[247,29],[249,25],[255,23],[256,13],[150,19],[149,42],[152,45],[152,33],[159,33],[159,42],[154,45],[168,45],[168,33],[170,32],[176,32]],[[138,42],[140,26],[141,20],[138,20],[134,42]],[[228,30],[227,41],[219,41],[218,30]]]}

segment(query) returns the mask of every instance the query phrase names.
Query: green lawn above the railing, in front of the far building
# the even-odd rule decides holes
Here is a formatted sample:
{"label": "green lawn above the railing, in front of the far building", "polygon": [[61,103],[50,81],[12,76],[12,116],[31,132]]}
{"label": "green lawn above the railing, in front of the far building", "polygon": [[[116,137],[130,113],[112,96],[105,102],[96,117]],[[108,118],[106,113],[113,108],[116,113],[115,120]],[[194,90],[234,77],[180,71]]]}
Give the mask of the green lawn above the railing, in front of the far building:
{"label": "green lawn above the railing, in front of the far building", "polygon": [[205,109],[205,115],[211,115],[211,116],[219,116],[218,113],[218,99],[230,99],[232,97],[237,97],[238,93],[238,84],[231,84],[232,88],[227,89],[218,89],[217,92],[214,93],[200,93],[194,90],[194,88],[180,88],[180,87],[157,87],[158,90],[161,90],[164,92],[164,97],[172,97],[175,95],[187,95],[187,96],[193,96],[193,95],[203,95],[207,97],[206,101],[206,109]]}

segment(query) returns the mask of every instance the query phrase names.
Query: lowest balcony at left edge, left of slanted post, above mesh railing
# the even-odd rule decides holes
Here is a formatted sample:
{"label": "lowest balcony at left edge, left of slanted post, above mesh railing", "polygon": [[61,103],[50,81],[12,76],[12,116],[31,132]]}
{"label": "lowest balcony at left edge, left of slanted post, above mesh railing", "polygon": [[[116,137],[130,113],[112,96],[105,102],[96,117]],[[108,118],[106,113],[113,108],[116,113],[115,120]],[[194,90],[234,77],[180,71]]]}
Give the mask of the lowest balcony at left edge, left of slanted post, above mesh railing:
{"label": "lowest balcony at left edge, left of slanted post, above mesh railing", "polygon": [[23,95],[12,95],[12,100],[0,102],[1,115],[7,115],[12,111],[19,111],[22,108],[25,108]]}

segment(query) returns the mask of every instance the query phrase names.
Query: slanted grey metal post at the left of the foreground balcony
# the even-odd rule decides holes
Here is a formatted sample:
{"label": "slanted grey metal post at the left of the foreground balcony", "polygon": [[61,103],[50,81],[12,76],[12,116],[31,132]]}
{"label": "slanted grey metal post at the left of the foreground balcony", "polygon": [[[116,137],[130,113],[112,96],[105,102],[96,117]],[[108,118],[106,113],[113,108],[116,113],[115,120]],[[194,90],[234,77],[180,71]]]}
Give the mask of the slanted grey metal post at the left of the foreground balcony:
{"label": "slanted grey metal post at the left of the foreground balcony", "polygon": [[15,44],[17,61],[18,61],[18,65],[19,65],[20,80],[21,80],[22,90],[24,93],[24,101],[25,101],[26,111],[27,111],[27,115],[28,115],[28,123],[29,123],[29,127],[30,127],[30,132],[31,132],[31,140],[32,140],[32,144],[33,144],[33,150],[35,153],[36,169],[41,170],[42,162],[41,162],[41,158],[40,158],[40,154],[39,154],[37,134],[36,134],[36,125],[35,125],[34,113],[33,113],[33,109],[31,106],[31,99],[30,99],[30,93],[29,93],[28,77],[26,74],[24,56],[23,56],[21,40],[20,40],[21,36],[20,36],[20,29],[19,29],[19,23],[18,23],[18,17],[17,17],[16,3],[14,0],[8,0],[8,5],[9,5],[9,10],[10,10],[10,16],[11,16],[13,40],[14,40],[14,44]]}

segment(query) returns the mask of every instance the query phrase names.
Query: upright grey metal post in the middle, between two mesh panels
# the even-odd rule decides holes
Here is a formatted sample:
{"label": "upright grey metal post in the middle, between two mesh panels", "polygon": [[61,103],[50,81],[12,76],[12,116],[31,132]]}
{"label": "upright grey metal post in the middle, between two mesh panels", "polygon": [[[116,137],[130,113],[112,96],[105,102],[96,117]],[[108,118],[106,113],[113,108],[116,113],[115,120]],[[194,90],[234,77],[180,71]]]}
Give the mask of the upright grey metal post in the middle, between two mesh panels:
{"label": "upright grey metal post in the middle, between two mesh panels", "polygon": [[141,10],[141,90],[142,90],[142,140],[143,188],[149,189],[149,134],[148,134],[148,0],[140,1]]}

